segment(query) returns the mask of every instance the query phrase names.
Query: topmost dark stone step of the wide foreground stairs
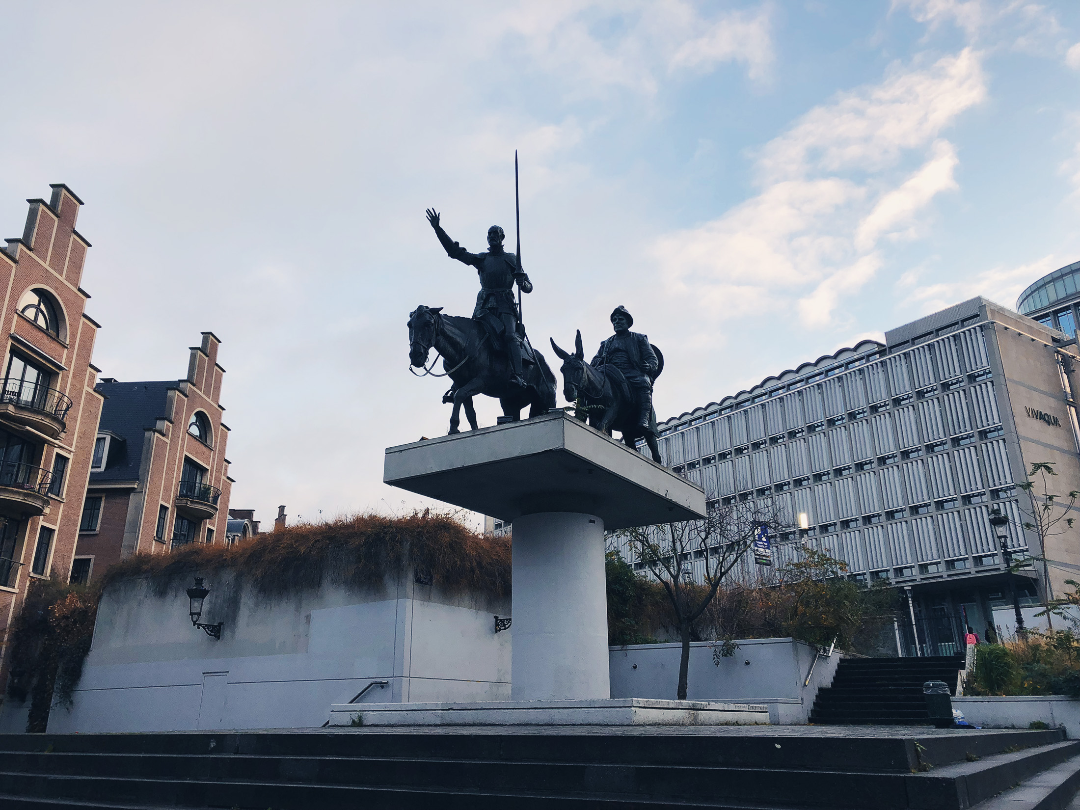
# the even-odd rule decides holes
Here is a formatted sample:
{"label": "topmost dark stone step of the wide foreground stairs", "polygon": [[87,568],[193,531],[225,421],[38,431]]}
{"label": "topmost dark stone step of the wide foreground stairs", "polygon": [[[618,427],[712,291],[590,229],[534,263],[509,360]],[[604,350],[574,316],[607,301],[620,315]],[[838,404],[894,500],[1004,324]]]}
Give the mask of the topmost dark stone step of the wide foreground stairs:
{"label": "topmost dark stone step of the wide foreground stairs", "polygon": [[[958,741],[962,739],[962,746]],[[615,765],[707,765],[909,771],[918,762],[916,742],[929,761],[960,761],[967,751],[980,756],[1007,747],[1061,742],[1061,730],[986,730],[976,734],[873,731],[845,737],[800,733],[777,735],[751,729],[738,734],[678,732],[619,733],[610,729],[565,729],[555,733],[517,729],[513,733],[476,728],[325,732],[198,732],[149,734],[3,734],[0,766],[19,753],[203,755],[246,754],[307,757],[405,757]],[[966,746],[966,747],[964,747]]]}

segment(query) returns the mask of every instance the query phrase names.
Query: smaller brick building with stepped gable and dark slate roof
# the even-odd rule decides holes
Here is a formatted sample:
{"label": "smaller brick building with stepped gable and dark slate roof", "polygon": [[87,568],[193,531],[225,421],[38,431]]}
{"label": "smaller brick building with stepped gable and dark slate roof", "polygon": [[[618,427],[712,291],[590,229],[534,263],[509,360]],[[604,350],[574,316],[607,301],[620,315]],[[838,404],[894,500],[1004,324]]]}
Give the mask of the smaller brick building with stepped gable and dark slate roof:
{"label": "smaller brick building with stepped gable and dark slate roof", "polygon": [[100,427],[79,526],[72,581],[89,582],[132,554],[226,542],[229,428],[218,403],[220,341],[202,333],[181,380],[104,378]]}

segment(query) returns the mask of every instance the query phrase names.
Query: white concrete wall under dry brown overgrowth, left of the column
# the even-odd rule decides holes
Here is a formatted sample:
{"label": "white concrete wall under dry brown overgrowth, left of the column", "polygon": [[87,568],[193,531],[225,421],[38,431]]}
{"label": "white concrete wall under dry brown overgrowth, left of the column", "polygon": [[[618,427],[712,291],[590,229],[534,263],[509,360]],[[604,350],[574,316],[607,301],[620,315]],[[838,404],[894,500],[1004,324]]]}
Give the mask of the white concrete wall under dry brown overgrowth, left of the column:
{"label": "white concrete wall under dry brown overgrowth, left of the column", "polygon": [[[373,680],[390,685],[362,702],[510,698],[510,633],[494,619],[509,599],[442,593],[411,570],[380,589],[282,597],[212,572],[202,620],[225,622],[215,640],[191,626],[189,584],[164,596],[150,580],[107,590],[75,705],[54,707],[50,731],[320,726]],[[0,727],[17,725],[25,706],[9,700],[3,713]]]}

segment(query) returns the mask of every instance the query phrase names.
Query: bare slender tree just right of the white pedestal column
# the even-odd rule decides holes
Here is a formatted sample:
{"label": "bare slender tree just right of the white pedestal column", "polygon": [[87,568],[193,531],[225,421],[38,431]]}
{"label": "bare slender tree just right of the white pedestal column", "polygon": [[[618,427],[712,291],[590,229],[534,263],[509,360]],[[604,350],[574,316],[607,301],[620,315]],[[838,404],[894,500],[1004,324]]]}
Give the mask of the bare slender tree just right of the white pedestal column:
{"label": "bare slender tree just right of the white pedestal column", "polygon": [[[678,700],[686,700],[690,636],[694,621],[716,596],[724,578],[747,553],[760,526],[772,535],[784,525],[769,501],[715,507],[704,519],[627,529],[631,552],[663,585],[683,643],[678,666]],[[701,582],[693,561],[702,561]]]}

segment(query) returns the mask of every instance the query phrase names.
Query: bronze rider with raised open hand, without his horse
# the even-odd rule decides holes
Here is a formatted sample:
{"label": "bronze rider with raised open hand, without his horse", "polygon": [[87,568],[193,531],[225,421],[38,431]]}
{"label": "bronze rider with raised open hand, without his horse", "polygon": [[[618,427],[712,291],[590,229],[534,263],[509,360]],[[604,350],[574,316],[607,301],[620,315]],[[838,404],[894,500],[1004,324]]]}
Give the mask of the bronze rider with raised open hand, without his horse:
{"label": "bronze rider with raised open hand, without his horse", "polygon": [[435,229],[435,235],[447,256],[476,268],[481,289],[476,295],[473,318],[486,322],[492,334],[499,337],[510,357],[510,382],[524,388],[526,383],[522,376],[522,346],[517,328],[521,312],[514,302],[514,284],[523,293],[531,293],[532,282],[517,266],[517,257],[502,248],[502,241],[505,239],[502,228],[492,225],[487,229],[487,251],[469,253],[446,234],[438,224],[438,212],[434,208],[428,208],[428,221]]}

